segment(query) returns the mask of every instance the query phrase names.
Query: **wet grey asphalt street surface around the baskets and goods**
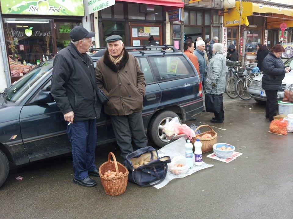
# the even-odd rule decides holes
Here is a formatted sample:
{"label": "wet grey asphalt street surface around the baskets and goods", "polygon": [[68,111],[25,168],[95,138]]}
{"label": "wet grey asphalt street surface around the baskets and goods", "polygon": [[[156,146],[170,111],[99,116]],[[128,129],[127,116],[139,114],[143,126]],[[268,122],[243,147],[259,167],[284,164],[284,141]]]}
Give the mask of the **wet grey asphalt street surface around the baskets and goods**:
{"label": "wet grey asphalt street surface around the baskets and goods", "polygon": [[[0,188],[0,218],[292,218],[293,134],[268,133],[265,105],[253,99],[225,95],[224,110],[224,123],[210,123],[213,114],[203,112],[187,124],[211,125],[219,143],[243,153],[230,163],[207,158],[212,153],[207,152],[203,161],[213,167],[161,189],[128,182],[124,194],[109,196],[97,177],[92,188],[72,183],[71,155],[63,155],[14,167]],[[110,151],[121,161],[117,144],[111,143],[97,149],[97,166]]]}

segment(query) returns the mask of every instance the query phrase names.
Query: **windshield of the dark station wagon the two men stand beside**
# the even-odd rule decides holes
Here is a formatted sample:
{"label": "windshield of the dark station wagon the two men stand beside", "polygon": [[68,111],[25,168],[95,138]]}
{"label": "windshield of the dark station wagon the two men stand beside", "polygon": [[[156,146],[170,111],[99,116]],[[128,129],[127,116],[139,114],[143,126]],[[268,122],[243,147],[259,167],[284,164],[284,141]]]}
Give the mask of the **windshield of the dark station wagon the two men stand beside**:
{"label": "windshield of the dark station wagon the two men stand beside", "polygon": [[53,61],[44,62],[38,67],[34,68],[20,80],[12,84],[6,90],[6,100],[10,102],[16,102],[21,97],[26,96],[25,93],[30,92],[38,84],[38,80],[42,80],[46,75],[49,74],[49,70],[53,68]]}

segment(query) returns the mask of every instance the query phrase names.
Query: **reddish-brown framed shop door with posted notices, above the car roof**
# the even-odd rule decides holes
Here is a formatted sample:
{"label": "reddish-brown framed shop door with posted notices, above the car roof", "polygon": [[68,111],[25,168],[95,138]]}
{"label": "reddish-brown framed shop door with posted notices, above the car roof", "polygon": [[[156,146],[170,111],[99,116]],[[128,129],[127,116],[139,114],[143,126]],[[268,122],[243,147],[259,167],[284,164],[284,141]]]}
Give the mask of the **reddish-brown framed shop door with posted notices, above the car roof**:
{"label": "reddish-brown framed shop door with posted notices, above the car roof", "polygon": [[149,43],[150,36],[154,37],[154,40],[159,45],[162,45],[162,26],[157,24],[130,24],[130,45],[141,46]]}

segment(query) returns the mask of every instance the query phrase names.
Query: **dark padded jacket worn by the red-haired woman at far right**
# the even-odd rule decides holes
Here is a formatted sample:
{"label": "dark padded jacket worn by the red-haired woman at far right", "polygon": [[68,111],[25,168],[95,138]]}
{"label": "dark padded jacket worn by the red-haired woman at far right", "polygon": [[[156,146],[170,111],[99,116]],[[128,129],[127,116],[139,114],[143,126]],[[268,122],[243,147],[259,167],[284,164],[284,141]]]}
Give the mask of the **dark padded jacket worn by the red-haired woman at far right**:
{"label": "dark padded jacket worn by the red-haired woman at far right", "polygon": [[285,65],[281,58],[270,52],[262,61],[263,76],[262,89],[281,90],[282,80],[285,77]]}

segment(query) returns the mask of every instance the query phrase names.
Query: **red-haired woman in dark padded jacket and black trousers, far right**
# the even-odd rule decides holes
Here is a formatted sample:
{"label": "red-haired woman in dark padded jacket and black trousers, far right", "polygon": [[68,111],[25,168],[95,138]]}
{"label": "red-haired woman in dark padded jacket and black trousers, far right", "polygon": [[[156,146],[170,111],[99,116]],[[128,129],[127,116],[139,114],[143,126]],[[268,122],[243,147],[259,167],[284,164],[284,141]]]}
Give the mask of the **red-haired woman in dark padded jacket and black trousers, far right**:
{"label": "red-haired woman in dark padded jacket and black trousers, far right", "polygon": [[262,89],[266,92],[266,118],[270,121],[274,120],[273,117],[277,115],[277,92],[282,89],[282,80],[285,77],[285,73],[291,71],[291,68],[285,67],[281,60],[284,51],[282,45],[275,45],[262,63]]}

